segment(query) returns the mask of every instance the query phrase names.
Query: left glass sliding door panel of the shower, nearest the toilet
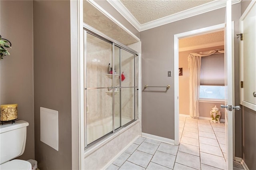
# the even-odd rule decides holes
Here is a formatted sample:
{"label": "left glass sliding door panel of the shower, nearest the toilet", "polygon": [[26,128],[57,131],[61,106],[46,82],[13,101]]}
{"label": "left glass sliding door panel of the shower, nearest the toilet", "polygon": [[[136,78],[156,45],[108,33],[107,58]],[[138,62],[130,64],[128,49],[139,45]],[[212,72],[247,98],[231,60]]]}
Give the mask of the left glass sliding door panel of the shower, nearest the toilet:
{"label": "left glass sliding door panel of the shower, nearest the toilet", "polygon": [[88,32],[85,60],[85,121],[87,145],[112,132],[112,44]]}

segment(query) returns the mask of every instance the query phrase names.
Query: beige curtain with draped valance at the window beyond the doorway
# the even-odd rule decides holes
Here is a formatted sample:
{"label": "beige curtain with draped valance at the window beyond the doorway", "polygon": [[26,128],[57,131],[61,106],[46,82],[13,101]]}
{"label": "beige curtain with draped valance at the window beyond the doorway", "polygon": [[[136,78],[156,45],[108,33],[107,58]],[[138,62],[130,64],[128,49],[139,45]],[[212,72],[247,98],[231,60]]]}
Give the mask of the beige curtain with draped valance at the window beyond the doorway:
{"label": "beige curtain with draped valance at the window beyond the doorway", "polygon": [[189,112],[193,118],[199,118],[199,92],[200,92],[200,69],[201,57],[212,54],[224,53],[224,50],[212,50],[188,55],[189,69]]}

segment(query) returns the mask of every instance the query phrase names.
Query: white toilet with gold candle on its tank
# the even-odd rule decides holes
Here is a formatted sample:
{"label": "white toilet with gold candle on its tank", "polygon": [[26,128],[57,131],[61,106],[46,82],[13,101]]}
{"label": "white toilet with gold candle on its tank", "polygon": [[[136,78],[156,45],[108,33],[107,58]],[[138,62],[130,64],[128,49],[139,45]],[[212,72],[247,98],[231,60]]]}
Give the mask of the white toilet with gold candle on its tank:
{"label": "white toilet with gold candle on its tank", "polygon": [[30,162],[14,159],[24,153],[27,126],[26,121],[0,125],[0,170],[32,169]]}

